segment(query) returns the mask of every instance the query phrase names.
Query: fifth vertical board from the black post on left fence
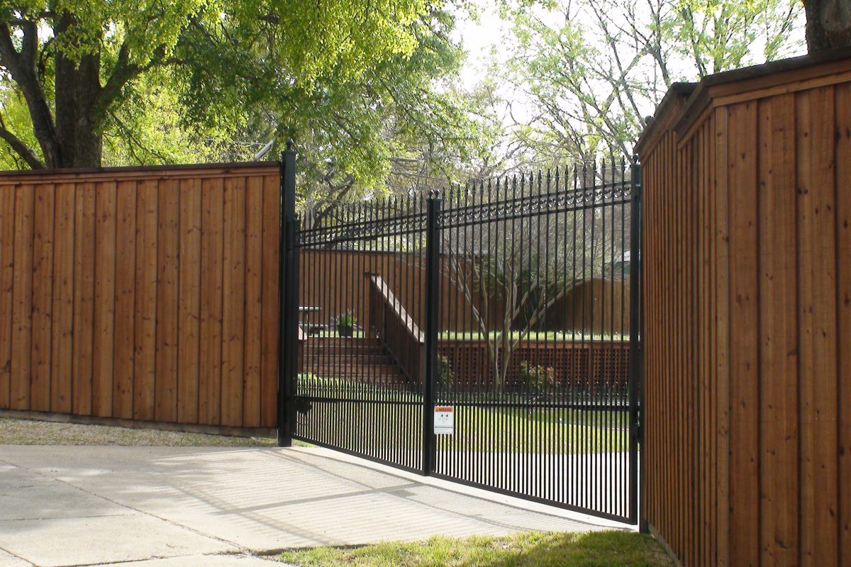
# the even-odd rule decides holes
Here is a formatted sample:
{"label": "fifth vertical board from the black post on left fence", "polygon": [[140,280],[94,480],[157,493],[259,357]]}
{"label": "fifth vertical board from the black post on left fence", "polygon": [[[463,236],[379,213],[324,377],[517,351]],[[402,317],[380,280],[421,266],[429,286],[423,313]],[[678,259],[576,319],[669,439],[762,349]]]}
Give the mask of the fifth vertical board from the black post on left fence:
{"label": "fifth vertical board from the black post on left fence", "polygon": [[177,420],[198,421],[198,343],[201,305],[201,180],[180,180],[180,298],[178,300]]}

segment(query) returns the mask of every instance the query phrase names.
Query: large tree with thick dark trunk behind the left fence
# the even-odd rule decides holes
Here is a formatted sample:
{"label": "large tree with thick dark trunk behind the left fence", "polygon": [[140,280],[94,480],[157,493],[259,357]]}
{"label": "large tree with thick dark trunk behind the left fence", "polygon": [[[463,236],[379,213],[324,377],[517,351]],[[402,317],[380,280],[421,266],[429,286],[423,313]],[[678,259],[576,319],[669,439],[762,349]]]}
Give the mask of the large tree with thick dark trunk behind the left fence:
{"label": "large tree with thick dark trunk behind the left fence", "polygon": [[0,139],[29,167],[99,166],[105,131],[146,77],[173,86],[182,124],[201,131],[244,122],[260,100],[321,105],[323,85],[412,54],[427,9],[426,0],[3,2],[0,89],[26,103],[28,120],[13,129],[4,116]]}

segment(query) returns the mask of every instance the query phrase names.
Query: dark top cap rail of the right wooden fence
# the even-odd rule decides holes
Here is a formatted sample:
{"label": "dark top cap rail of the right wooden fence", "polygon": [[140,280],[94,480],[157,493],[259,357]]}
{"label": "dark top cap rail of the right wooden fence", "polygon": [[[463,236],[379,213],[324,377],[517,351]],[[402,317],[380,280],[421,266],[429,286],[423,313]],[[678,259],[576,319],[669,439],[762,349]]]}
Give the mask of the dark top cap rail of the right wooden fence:
{"label": "dark top cap rail of the right wooden fence", "polygon": [[[700,82],[676,82],[671,85],[665,98],[656,107],[653,118],[648,121],[639,136],[636,153],[642,154],[652,148],[654,144],[651,140],[657,138],[660,130],[676,128],[681,133],[686,132],[716,96],[760,91],[767,86],[766,77],[773,79],[771,86],[778,86],[820,75],[831,75],[840,69],[851,70],[851,48],[830,49],[762,65],[722,71],[707,75]],[[678,109],[677,103],[681,104]]]}

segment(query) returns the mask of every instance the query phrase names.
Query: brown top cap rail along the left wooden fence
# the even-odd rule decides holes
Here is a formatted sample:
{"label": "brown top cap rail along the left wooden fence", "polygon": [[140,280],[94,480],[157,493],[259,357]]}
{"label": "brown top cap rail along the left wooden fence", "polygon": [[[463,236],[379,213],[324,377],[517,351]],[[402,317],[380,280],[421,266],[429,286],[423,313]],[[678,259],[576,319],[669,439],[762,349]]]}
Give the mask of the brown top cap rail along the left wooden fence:
{"label": "brown top cap rail along the left wooden fence", "polygon": [[0,184],[20,184],[27,182],[45,183],[50,180],[84,180],[107,178],[162,178],[191,177],[201,173],[211,176],[217,173],[245,173],[246,169],[268,170],[278,173],[279,162],[230,162],[230,163],[186,163],[158,166],[123,167],[65,167],[60,169],[20,169],[0,171]]}

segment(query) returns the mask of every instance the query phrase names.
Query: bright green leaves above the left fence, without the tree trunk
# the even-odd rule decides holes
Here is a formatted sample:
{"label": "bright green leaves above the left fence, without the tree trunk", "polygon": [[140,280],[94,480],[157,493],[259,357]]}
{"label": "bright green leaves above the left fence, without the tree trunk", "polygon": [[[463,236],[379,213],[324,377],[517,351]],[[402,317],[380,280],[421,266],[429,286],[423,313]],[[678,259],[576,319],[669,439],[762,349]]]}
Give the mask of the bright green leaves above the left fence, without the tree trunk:
{"label": "bright green leaves above the left fence, without the tree trunk", "polygon": [[[19,50],[23,31],[37,32],[38,80],[53,113],[60,54],[77,64],[100,58],[102,89],[91,104],[105,165],[243,160],[271,138],[278,150],[293,138],[306,172],[302,205],[311,207],[380,191],[397,157],[422,162],[418,173],[429,175],[487,143],[470,116],[473,99],[453,88],[463,52],[449,8],[19,0],[0,3],[0,14]],[[20,82],[7,72],[0,102],[5,128],[44,159]],[[25,165],[2,140],[0,163]]]}

